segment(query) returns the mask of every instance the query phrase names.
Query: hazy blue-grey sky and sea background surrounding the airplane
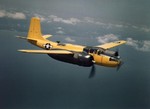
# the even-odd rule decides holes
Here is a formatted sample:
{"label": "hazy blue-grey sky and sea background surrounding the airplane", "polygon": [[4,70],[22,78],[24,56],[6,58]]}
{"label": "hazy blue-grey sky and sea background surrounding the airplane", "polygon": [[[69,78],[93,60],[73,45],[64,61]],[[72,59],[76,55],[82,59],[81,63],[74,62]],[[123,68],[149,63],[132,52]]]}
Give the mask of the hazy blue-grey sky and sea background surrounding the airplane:
{"label": "hazy blue-grey sky and sea background surrounding the airplane", "polygon": [[[1,0],[1,107],[148,109],[149,4],[149,0]],[[38,49],[15,38],[27,35],[33,16],[41,18],[43,34],[52,34],[53,41],[95,46],[127,40],[119,47],[125,64],[119,72],[96,66],[95,78],[88,79],[90,68],[17,52]]]}

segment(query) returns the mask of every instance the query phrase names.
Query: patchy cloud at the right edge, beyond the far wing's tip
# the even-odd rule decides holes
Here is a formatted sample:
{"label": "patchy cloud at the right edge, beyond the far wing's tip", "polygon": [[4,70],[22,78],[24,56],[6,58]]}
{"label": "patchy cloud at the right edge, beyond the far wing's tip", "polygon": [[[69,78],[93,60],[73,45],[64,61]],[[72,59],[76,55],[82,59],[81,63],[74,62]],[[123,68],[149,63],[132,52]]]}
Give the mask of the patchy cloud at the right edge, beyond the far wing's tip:
{"label": "patchy cloud at the right edge, beyond the far wing's tip", "polygon": [[127,38],[127,45],[133,47],[138,51],[150,52],[150,41],[149,40],[133,40],[132,38]]}

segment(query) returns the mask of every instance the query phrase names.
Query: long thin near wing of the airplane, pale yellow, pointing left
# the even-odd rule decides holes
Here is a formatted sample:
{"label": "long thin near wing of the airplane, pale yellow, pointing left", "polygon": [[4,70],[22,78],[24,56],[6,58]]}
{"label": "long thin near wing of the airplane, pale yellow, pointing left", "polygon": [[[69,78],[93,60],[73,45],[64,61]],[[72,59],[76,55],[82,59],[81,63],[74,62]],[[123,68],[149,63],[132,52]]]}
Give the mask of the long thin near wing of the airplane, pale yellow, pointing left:
{"label": "long thin near wing of the airplane, pale yellow, pointing left", "polygon": [[66,50],[18,50],[18,51],[33,54],[73,54],[71,51]]}

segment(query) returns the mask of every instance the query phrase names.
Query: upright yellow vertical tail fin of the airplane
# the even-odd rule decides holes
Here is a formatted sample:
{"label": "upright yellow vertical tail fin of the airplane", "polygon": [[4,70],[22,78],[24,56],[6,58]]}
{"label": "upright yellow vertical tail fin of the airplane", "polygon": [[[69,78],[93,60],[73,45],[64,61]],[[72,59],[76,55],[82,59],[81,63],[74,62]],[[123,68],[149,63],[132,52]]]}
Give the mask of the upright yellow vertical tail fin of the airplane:
{"label": "upright yellow vertical tail fin of the airplane", "polygon": [[28,40],[45,40],[42,37],[41,25],[40,25],[39,18],[33,17],[31,19],[27,39]]}

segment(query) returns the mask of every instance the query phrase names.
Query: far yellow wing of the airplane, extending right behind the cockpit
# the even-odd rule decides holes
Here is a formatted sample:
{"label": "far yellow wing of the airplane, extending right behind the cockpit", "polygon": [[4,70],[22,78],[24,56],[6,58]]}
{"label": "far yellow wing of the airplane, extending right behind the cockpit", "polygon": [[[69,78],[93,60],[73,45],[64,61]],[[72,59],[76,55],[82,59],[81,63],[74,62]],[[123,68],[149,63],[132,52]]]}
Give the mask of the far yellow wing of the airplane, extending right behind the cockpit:
{"label": "far yellow wing of the airplane, extending right behind the cockpit", "polygon": [[110,48],[114,48],[116,46],[120,46],[120,45],[125,44],[125,43],[126,43],[126,41],[120,40],[120,41],[106,43],[106,44],[103,44],[103,45],[98,45],[96,47],[100,47],[100,48],[103,48],[103,49],[110,49]]}

